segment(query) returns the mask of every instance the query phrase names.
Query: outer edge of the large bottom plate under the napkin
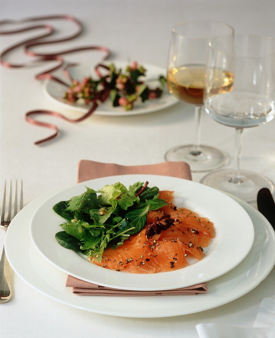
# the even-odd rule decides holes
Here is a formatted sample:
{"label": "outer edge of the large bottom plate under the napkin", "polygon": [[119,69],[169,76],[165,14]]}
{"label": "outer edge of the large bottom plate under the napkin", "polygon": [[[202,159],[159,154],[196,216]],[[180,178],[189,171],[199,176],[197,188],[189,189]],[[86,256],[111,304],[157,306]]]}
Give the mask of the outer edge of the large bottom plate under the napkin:
{"label": "outer edge of the large bottom plate under the napkin", "polygon": [[[45,200],[46,198],[48,198],[51,194],[46,194],[46,195],[43,195],[42,197],[39,197],[37,199],[35,199],[34,201],[30,202],[25,208],[29,208],[31,206],[33,206],[33,204],[37,203],[38,201],[41,203],[41,201]],[[273,244],[275,244],[275,233],[274,233],[274,230],[271,226],[271,224],[268,222],[268,220],[258,211],[256,210],[255,208],[253,208],[251,205],[249,205],[248,203],[246,203],[245,201],[242,201],[240,200],[239,198],[237,197],[234,197],[230,194],[227,194],[229,195],[231,198],[233,198],[235,201],[237,201],[238,203],[240,203],[242,205],[242,207],[245,209],[247,208],[248,210],[250,210],[250,212],[252,212],[254,215],[256,214],[257,216],[259,216],[263,223],[265,223],[265,226],[267,228],[267,230],[269,230],[269,233],[270,235],[272,235],[272,239],[273,239]],[[40,204],[39,204],[40,205]],[[19,216],[25,212],[25,208],[23,208],[16,216],[15,216],[15,220],[17,220],[19,218]],[[37,208],[37,206],[36,206]],[[28,210],[28,209],[27,209]],[[13,223],[13,221],[12,221]],[[12,224],[11,223],[11,224]],[[254,226],[254,224],[253,224]],[[26,231],[26,235],[29,236],[29,225],[27,225],[27,229],[25,230]],[[77,305],[77,304],[73,304],[73,303],[70,303],[69,301],[67,301],[67,298],[65,299],[60,299],[60,297],[56,297],[56,296],[52,296],[50,294],[48,294],[46,291],[42,291],[41,289],[37,288],[35,285],[33,285],[31,282],[29,282],[27,279],[25,279],[21,273],[18,271],[18,269],[14,266],[13,262],[10,260],[10,257],[9,257],[9,250],[8,249],[8,242],[9,242],[9,232],[11,232],[9,229],[13,229],[13,225],[12,227],[8,228],[7,229],[7,236],[5,237],[5,250],[6,250],[6,253],[7,253],[7,259],[8,259],[8,262],[10,264],[10,266],[13,268],[13,270],[15,271],[15,273],[19,276],[20,279],[22,279],[26,284],[28,284],[31,288],[37,290],[38,292],[40,292],[41,294],[53,299],[53,300],[56,300],[58,301],[59,303],[61,304],[65,304],[65,305],[68,305],[70,307],[73,307],[73,308],[78,308],[78,309],[81,309],[81,310],[84,310],[84,311],[88,311],[88,312],[92,312],[92,313],[100,313],[100,314],[105,314],[105,315],[112,315],[112,316],[117,316],[117,317],[129,317],[129,318],[161,318],[161,317],[173,317],[173,316],[180,316],[180,315],[186,315],[186,314],[194,314],[194,313],[198,313],[198,312],[202,312],[202,311],[207,311],[207,310],[210,310],[210,309],[214,309],[214,308],[217,308],[219,306],[222,306],[222,305],[225,305],[225,304],[228,304],[230,303],[231,301],[234,301],[242,296],[244,296],[245,294],[247,294],[248,292],[250,292],[251,290],[253,290],[255,287],[257,287],[268,275],[269,273],[271,272],[271,270],[273,269],[274,267],[274,264],[275,264],[275,245],[272,245],[270,244],[270,246],[273,248],[273,255],[272,255],[272,259],[269,261],[269,267],[265,269],[265,271],[261,274],[261,277],[259,277],[259,279],[257,280],[256,284],[254,283],[247,283],[249,285],[248,288],[246,288],[244,291],[242,292],[237,292],[235,293],[235,295],[232,297],[230,297],[229,299],[227,299],[226,297],[226,294],[224,297],[219,297],[219,295],[215,295],[214,294],[214,299],[216,299],[216,302],[214,302],[214,304],[212,305],[209,305],[209,306],[206,306],[204,308],[200,308],[200,309],[197,309],[196,311],[186,311],[186,308],[184,308],[184,311],[182,311],[182,308],[177,311],[176,313],[166,313],[166,314],[155,314],[155,315],[146,315],[146,316],[141,316],[140,315],[140,312],[139,314],[130,314],[129,312],[128,313],[124,313],[124,314],[121,314],[119,313],[119,311],[117,312],[114,312],[114,311],[98,311],[98,310],[95,310],[95,309],[88,309],[87,307],[83,306],[83,305]],[[30,244],[32,245],[31,243],[31,240],[29,238],[29,242]],[[13,250],[11,249],[11,252],[13,252]],[[29,252],[29,246],[27,247],[27,252]],[[38,255],[40,255],[38,252],[37,252]],[[27,258],[29,256],[27,255]],[[15,260],[15,262],[17,262],[17,260]],[[31,265],[31,262],[29,263]],[[20,270],[20,269],[19,269]],[[36,271],[36,270],[35,270]],[[57,271],[59,271],[57,269]],[[36,272],[37,273],[37,272]],[[231,273],[231,272],[229,272]],[[29,277],[29,275],[27,276]],[[39,276],[39,278],[42,279],[42,277]],[[42,279],[42,281],[44,282],[44,280]],[[215,281],[215,280],[214,280]],[[241,280],[242,281],[242,280]],[[33,282],[34,283],[34,282]],[[213,283],[213,281],[210,281],[209,283]],[[240,282],[237,283],[237,285],[239,284]],[[60,295],[63,295],[63,293],[60,292]],[[207,294],[205,294],[207,295]],[[224,293],[223,293],[224,295]],[[75,297],[78,297],[77,295],[73,295]],[[199,297],[200,295],[196,295],[195,297]],[[82,297],[91,297],[91,296],[82,296]],[[157,297],[157,296],[154,296],[154,297]],[[189,297],[189,296],[185,296],[185,297]],[[192,296],[190,296],[192,297]],[[124,298],[129,298],[129,297],[124,297]],[[75,298],[73,298],[75,299]],[[78,298],[76,298],[78,299]],[[152,298],[151,298],[152,299]],[[122,302],[124,301],[124,299],[122,298]],[[201,302],[201,304],[205,302]],[[82,303],[81,303],[82,304]]]}

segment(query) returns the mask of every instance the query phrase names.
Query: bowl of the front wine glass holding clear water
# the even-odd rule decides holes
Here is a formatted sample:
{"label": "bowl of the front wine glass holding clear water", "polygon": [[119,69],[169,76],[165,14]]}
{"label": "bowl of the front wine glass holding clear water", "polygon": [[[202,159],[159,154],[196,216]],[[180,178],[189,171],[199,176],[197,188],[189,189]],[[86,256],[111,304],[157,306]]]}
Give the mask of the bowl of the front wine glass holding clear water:
{"label": "bowl of the front wine glass holding clear water", "polygon": [[[205,109],[217,122],[251,127],[269,122],[275,112],[275,40],[260,35],[228,35],[210,42],[205,83]],[[216,69],[234,74],[234,90],[216,93]],[[218,94],[218,95],[217,95]]]}

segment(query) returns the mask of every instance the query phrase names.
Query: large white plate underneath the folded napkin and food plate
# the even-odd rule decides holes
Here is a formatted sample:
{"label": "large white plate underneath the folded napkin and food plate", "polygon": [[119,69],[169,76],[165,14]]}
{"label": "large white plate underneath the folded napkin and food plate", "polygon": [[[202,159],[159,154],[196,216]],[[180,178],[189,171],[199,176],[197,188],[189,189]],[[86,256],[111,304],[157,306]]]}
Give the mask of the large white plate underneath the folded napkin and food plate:
{"label": "large white plate underneath the folded napkin and food plate", "polygon": [[65,287],[67,274],[47,262],[30,240],[31,217],[48,197],[29,203],[12,220],[5,237],[5,252],[10,266],[25,283],[45,296],[74,308],[106,315],[144,318],[200,312],[248,293],[266,278],[275,263],[275,234],[271,225],[256,209],[232,196],[251,217],[255,241],[247,257],[237,267],[207,283],[207,293],[146,297],[76,295],[71,288]]}

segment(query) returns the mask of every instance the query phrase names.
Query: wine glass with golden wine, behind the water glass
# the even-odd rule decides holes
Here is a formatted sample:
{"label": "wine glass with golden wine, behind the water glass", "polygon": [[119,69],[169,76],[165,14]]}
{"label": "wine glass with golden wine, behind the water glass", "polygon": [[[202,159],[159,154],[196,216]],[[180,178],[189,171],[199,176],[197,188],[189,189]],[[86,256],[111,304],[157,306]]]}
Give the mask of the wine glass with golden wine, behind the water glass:
{"label": "wine glass with golden wine, behind the water glass", "polygon": [[[195,106],[196,139],[194,144],[180,145],[168,150],[165,160],[185,161],[193,172],[221,168],[229,162],[226,152],[200,144],[200,130],[209,41],[216,36],[233,32],[231,26],[214,21],[184,22],[172,30],[167,62],[167,84],[170,93]],[[232,78],[223,72],[217,74],[217,81],[213,84],[219,91],[228,91],[232,85]]]}

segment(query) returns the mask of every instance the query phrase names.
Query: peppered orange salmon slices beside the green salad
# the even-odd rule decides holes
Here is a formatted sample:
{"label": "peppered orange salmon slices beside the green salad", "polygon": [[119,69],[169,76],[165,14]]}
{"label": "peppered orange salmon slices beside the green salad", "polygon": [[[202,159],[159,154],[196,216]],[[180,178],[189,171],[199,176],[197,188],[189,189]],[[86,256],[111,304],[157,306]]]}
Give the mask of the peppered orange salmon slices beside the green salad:
{"label": "peppered orange salmon slices beside the green salad", "polygon": [[172,203],[173,191],[160,191],[159,198],[165,199],[168,206],[149,211],[146,226],[156,217],[167,214],[175,220],[171,227],[152,237],[145,235],[145,227],[139,234],[131,235],[123,245],[106,249],[101,262],[92,262],[116,271],[156,273],[186,267],[188,256],[201,260],[205,256],[203,248],[209,246],[215,236],[214,224],[191,210],[176,207]]}

